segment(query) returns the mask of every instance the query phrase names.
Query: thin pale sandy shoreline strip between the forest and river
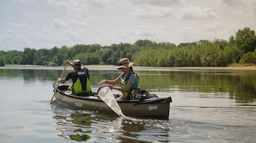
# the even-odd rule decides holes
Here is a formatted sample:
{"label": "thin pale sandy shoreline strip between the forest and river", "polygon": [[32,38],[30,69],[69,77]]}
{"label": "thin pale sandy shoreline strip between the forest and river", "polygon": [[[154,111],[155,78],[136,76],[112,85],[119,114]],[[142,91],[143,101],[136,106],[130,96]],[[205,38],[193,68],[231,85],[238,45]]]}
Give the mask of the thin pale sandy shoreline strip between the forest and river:
{"label": "thin pale sandy shoreline strip between the forest and river", "polygon": [[[39,66],[39,65],[5,65],[0,69],[45,69],[60,70],[64,66]],[[114,65],[85,65],[89,70],[116,70]],[[146,67],[134,66],[136,71],[256,71],[256,66],[229,66],[229,67]],[[68,67],[68,69],[72,69]]]}

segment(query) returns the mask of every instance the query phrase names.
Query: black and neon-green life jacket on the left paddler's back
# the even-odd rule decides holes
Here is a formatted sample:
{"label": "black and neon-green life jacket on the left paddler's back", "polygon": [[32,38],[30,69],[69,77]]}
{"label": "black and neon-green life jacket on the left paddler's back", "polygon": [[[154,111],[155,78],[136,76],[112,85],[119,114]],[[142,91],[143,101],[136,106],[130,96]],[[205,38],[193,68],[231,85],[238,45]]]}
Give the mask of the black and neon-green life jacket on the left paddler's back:
{"label": "black and neon-green life jacket on the left paddler's back", "polygon": [[77,79],[72,85],[72,92],[76,95],[82,95],[83,93],[91,93],[91,83],[89,80],[88,73],[82,69],[76,71]]}

